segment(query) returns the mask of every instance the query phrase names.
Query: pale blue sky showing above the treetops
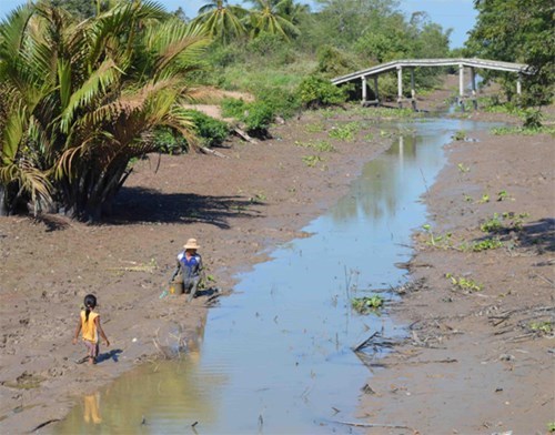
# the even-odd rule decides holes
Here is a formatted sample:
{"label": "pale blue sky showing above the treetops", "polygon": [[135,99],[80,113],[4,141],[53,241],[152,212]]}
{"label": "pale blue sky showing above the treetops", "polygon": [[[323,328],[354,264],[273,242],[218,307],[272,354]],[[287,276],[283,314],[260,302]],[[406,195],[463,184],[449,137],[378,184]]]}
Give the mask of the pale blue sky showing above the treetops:
{"label": "pale blue sky showing above the treetops", "polygon": [[[208,0],[158,0],[169,11],[181,7],[189,18],[196,16],[199,8],[208,3]],[[241,4],[241,0],[231,0],[231,3]],[[311,1],[300,1],[311,3]],[[26,0],[0,0],[0,19],[3,19],[16,7],[26,3]],[[433,22],[441,24],[444,29],[453,29],[451,34],[451,48],[464,45],[467,34],[474,27],[476,11],[473,0],[400,0],[400,9],[411,18],[416,11],[427,12]]]}

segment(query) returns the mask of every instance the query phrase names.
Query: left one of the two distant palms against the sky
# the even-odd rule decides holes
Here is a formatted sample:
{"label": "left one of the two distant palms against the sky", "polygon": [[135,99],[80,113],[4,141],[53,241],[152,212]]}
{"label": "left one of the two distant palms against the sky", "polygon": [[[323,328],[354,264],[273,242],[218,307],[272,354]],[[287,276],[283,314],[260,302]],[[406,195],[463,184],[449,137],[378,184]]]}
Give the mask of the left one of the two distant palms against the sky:
{"label": "left one of the two distant palms against the sky", "polygon": [[228,42],[246,33],[241,22],[246,11],[228,0],[214,0],[199,9],[199,16],[193,23],[201,23],[208,33],[218,40]]}

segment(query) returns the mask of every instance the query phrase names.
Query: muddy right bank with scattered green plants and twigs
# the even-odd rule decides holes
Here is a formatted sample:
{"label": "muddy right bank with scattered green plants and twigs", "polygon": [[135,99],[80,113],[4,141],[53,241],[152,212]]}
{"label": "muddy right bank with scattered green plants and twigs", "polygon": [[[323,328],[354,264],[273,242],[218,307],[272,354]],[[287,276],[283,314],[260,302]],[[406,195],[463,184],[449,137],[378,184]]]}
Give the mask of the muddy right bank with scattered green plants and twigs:
{"label": "muddy right bank with scattered green plants and twigs", "polygon": [[372,368],[360,417],[421,434],[546,434],[555,419],[554,140],[473,139],[447,146],[448,164],[424,195],[431,229],[415,236],[410,264],[418,285],[392,308],[407,340]]}

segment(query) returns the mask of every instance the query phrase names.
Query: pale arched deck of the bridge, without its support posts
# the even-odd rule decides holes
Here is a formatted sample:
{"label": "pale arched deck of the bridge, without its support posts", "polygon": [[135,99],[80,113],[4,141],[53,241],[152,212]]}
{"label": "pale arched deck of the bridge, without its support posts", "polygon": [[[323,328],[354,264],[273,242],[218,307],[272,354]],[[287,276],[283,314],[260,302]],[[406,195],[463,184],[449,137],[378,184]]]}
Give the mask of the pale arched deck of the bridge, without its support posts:
{"label": "pale arched deck of the bridge, without its support posts", "polygon": [[366,77],[377,75],[383,72],[393,71],[398,68],[416,68],[416,67],[468,67],[482,68],[497,71],[511,71],[523,74],[531,74],[529,68],[524,63],[501,62],[496,60],[485,59],[405,59],[395,60],[393,62],[382,63],[365,70],[352,72],[351,74],[341,75],[332,79],[333,84],[346,83],[352,80]]}

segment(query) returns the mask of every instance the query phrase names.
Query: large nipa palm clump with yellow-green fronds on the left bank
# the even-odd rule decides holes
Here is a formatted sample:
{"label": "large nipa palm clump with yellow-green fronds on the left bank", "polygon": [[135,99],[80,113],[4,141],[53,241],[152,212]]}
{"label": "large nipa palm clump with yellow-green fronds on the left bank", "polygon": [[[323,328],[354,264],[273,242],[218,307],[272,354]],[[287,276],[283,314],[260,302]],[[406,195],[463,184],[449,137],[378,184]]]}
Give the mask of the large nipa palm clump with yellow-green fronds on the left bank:
{"label": "large nipa palm clump with yellow-green fronds on the left bank", "polygon": [[[209,42],[200,27],[168,18],[154,2],[122,1],[82,22],[49,4],[20,8],[0,24],[0,97],[20,102],[19,109],[0,105],[8,120],[1,173],[18,175],[10,164],[30,164],[51,178],[52,196],[67,213],[99,219],[131,159],[155,149],[155,128],[192,138],[182,108],[186,73]],[[14,129],[18,111],[21,128]],[[4,189],[13,182],[2,178]]]}

